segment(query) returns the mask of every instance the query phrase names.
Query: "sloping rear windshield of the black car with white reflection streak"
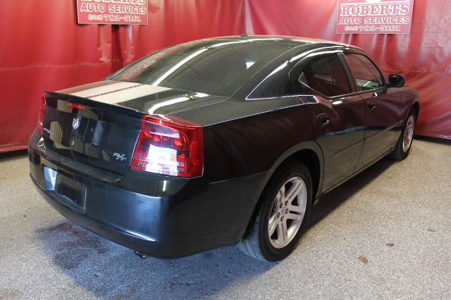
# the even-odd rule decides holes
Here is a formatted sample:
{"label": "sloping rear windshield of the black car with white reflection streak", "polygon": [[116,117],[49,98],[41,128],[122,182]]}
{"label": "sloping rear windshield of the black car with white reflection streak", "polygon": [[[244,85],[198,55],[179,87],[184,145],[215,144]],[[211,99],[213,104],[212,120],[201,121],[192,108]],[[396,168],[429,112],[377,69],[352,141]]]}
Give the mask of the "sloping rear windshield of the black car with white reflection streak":
{"label": "sloping rear windshield of the black car with white reflection streak", "polygon": [[249,40],[195,41],[146,56],[107,79],[230,96],[287,50]]}

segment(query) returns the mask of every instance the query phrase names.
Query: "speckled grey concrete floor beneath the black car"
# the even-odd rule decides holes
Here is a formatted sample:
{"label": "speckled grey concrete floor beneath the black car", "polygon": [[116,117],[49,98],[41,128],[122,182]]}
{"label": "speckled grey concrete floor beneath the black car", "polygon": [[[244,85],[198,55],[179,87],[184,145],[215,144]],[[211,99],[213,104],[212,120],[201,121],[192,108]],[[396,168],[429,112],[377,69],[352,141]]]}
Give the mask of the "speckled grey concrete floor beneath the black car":
{"label": "speckled grey concrete floor beneath the black car", "polygon": [[25,152],[0,170],[0,299],[451,298],[450,142],[416,140],[323,196],[280,263],[236,247],[143,261],[56,213]]}

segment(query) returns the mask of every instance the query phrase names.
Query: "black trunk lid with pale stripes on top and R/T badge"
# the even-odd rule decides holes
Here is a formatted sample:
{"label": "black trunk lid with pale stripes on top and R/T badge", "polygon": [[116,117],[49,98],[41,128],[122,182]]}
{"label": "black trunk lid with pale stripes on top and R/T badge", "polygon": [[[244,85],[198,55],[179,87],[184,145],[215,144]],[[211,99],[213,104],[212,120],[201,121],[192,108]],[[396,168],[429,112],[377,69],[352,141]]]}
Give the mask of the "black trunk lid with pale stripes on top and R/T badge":
{"label": "black trunk lid with pale stripes on top and R/T badge", "polygon": [[46,93],[44,144],[57,154],[123,175],[145,114],[171,114],[224,97],[105,80]]}

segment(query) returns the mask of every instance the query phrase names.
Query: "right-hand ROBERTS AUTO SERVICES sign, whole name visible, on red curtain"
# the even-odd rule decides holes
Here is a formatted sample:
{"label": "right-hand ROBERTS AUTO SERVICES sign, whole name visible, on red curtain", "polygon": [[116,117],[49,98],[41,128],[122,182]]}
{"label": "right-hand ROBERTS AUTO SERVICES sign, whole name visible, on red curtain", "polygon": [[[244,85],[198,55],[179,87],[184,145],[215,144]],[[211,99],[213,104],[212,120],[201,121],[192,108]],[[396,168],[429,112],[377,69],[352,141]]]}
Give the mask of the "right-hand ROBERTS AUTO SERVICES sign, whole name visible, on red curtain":
{"label": "right-hand ROBERTS AUTO SERVICES sign, whole name visible, on red curtain", "polygon": [[409,34],[414,0],[337,0],[337,33]]}

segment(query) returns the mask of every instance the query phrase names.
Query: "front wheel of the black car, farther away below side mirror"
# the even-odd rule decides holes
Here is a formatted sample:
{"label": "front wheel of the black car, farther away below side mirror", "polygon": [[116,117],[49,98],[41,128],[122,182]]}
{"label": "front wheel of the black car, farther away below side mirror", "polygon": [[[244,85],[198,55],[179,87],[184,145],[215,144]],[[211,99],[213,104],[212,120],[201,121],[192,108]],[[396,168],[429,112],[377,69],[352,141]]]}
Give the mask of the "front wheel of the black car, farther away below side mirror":
{"label": "front wheel of the black car, farther away below side mirror", "polygon": [[402,128],[401,136],[397,141],[395,150],[389,154],[390,158],[403,161],[409,156],[412,143],[414,142],[416,115],[416,109],[412,107],[404,122],[404,127]]}

